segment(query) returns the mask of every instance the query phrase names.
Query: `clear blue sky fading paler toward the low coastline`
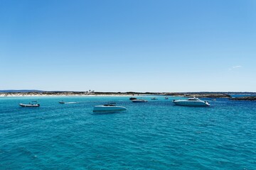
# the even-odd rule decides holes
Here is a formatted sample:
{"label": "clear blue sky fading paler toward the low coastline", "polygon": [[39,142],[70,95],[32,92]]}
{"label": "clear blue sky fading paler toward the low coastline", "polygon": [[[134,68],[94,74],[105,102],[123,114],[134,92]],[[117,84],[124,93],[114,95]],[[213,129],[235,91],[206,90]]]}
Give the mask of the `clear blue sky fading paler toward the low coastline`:
{"label": "clear blue sky fading paler toward the low coastline", "polygon": [[256,91],[256,1],[0,1],[0,89]]}

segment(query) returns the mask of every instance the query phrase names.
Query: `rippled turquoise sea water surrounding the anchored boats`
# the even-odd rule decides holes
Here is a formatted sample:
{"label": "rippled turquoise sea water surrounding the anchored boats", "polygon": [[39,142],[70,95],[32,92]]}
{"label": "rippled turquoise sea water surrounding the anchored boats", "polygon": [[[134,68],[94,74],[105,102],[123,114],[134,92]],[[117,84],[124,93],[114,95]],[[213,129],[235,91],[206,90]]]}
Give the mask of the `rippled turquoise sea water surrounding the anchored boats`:
{"label": "rippled turquoise sea water surrounding the anchored boats", "polygon": [[[256,169],[255,101],[151,97],[0,98],[0,169]],[[127,111],[92,113],[107,101]]]}

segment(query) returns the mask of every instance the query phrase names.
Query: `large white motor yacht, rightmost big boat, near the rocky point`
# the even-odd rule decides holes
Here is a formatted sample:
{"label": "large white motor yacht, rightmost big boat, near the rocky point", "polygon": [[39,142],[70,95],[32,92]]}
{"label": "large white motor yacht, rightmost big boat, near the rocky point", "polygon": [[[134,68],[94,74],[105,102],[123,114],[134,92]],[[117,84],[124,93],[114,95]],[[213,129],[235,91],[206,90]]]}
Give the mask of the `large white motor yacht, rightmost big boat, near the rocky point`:
{"label": "large white motor yacht, rightmost big boat, near the rocky point", "polygon": [[201,101],[199,98],[188,98],[187,100],[174,100],[174,104],[179,106],[210,106],[208,101]]}

